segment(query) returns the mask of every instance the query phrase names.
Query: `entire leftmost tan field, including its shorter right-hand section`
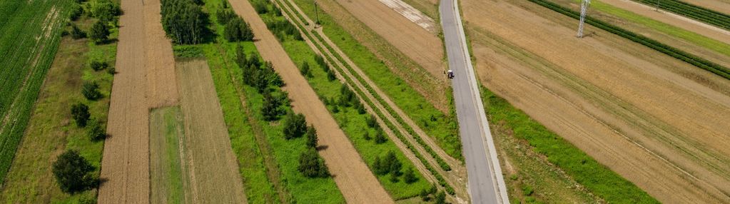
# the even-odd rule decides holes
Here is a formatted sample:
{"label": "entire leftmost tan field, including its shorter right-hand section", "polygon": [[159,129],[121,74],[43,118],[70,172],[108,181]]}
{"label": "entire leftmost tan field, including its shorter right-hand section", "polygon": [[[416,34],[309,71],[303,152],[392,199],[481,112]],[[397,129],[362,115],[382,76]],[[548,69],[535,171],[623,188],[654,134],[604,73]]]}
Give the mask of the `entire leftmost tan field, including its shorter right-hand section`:
{"label": "entire leftmost tan field, including its shorter right-hand section", "polygon": [[149,203],[149,109],[178,98],[172,44],[162,31],[159,0],[122,0],[121,8],[98,200]]}

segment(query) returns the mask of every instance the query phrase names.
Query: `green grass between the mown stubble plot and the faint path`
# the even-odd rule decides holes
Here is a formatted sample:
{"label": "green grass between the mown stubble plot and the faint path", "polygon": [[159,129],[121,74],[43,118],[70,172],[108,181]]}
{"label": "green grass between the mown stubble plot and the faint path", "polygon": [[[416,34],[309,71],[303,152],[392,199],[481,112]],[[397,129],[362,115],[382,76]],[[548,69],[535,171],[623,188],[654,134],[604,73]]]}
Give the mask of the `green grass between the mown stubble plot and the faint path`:
{"label": "green grass between the mown stubble plot and the faint path", "polygon": [[[221,44],[224,50],[232,50],[234,45],[236,44]],[[249,55],[255,52],[253,43],[243,43],[242,46],[246,47]],[[201,49],[207,56],[220,107],[223,109],[223,117],[228,126],[228,136],[231,137],[231,147],[238,157],[239,173],[243,178],[248,203],[287,203],[285,195],[289,194],[283,187],[284,184],[281,184],[280,170],[275,162],[269,161],[272,160],[273,155],[269,155],[272,154],[272,149],[270,147],[265,149],[268,147],[268,141],[264,134],[252,127],[258,124],[251,124],[250,107],[242,106],[246,101],[242,90],[235,85],[237,82],[235,80],[239,77],[231,75],[231,72],[238,70],[238,67],[223,58],[227,51],[221,53],[217,45],[204,45]],[[261,127],[256,128],[261,129]]]}

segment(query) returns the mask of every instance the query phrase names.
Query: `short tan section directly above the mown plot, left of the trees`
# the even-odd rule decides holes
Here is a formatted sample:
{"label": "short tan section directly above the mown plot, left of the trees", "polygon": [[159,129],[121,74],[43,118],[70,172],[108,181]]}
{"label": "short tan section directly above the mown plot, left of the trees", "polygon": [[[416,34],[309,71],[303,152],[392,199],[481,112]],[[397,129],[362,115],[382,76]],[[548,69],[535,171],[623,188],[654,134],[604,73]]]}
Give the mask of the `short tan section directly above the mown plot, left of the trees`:
{"label": "short tan section directly above the mown plot, left of the trees", "polygon": [[145,0],[145,67],[150,108],[177,104],[172,43],[162,29],[160,0]]}

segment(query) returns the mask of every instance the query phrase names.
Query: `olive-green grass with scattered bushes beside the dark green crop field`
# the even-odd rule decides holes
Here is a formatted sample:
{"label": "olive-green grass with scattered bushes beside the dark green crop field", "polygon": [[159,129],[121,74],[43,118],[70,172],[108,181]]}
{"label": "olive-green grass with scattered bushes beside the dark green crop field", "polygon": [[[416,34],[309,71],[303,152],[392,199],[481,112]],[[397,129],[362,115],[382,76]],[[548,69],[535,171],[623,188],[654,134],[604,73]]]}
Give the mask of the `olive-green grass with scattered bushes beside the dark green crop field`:
{"label": "olive-green grass with scattered bushes beside the dark green crop field", "polygon": [[[76,22],[82,29],[91,27],[93,20],[82,18]],[[116,36],[112,29],[112,36]],[[86,101],[81,94],[84,81],[99,82],[102,95],[108,96],[112,78],[107,71],[92,71],[88,67],[91,59],[115,63],[115,43],[96,45],[88,40],[62,38],[53,58],[44,85],[39,93],[30,123],[18,146],[0,192],[0,203],[81,203],[96,200],[96,190],[69,195],[58,188],[51,164],[55,156],[66,149],[80,152],[96,167],[94,176],[99,176],[103,141],[91,141],[86,130],[74,124],[70,107],[75,103],[89,106],[91,117],[105,122],[109,109],[109,97],[99,101]]]}

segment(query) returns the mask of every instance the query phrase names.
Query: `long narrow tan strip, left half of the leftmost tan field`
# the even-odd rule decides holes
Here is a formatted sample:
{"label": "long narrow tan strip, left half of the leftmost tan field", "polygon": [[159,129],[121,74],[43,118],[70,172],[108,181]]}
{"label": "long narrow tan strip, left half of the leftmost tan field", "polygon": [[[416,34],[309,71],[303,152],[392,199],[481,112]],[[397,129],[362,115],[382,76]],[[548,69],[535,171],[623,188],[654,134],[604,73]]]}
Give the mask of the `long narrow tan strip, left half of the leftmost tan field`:
{"label": "long narrow tan strip, left half of the leftmost tan field", "polygon": [[142,1],[123,0],[117,63],[101,160],[99,203],[150,203],[149,110]]}

